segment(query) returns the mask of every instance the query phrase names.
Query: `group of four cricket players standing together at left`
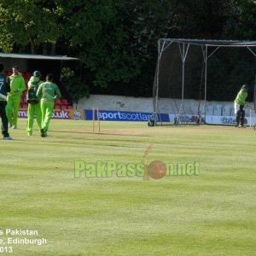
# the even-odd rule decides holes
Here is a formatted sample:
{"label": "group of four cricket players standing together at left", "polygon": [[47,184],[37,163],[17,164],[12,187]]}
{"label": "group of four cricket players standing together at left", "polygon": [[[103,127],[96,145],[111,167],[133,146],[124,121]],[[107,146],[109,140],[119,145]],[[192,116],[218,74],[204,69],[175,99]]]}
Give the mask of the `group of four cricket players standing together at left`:
{"label": "group of four cricket players standing together at left", "polygon": [[[12,140],[9,136],[9,128],[17,129],[20,98],[26,90],[25,79],[20,73],[19,67],[12,67],[12,74],[3,73],[3,63],[0,63],[0,115],[2,119],[2,135],[4,140]],[[55,106],[55,100],[61,97],[61,91],[54,82],[54,75],[48,73],[45,81],[41,73],[36,70],[27,83],[27,125],[26,132],[32,136],[34,116],[36,115],[38,130],[41,137],[47,137],[49,121]],[[28,101],[28,91],[35,91],[33,101]]]}

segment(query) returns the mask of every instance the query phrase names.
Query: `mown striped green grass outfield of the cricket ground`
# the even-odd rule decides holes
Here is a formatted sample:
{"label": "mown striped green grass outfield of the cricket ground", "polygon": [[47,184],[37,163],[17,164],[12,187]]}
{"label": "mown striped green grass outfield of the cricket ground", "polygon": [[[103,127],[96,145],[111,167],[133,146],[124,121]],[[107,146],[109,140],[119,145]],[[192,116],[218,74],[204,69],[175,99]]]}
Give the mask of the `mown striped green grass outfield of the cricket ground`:
{"label": "mown striped green grass outfield of the cricket ground", "polygon": [[[102,122],[92,134],[89,121],[53,119],[41,138],[18,125],[0,141],[0,250],[13,249],[0,255],[255,255],[252,128]],[[137,165],[149,145],[148,163],[196,162],[199,175],[74,177],[75,163]],[[8,243],[25,238],[46,243]]]}

